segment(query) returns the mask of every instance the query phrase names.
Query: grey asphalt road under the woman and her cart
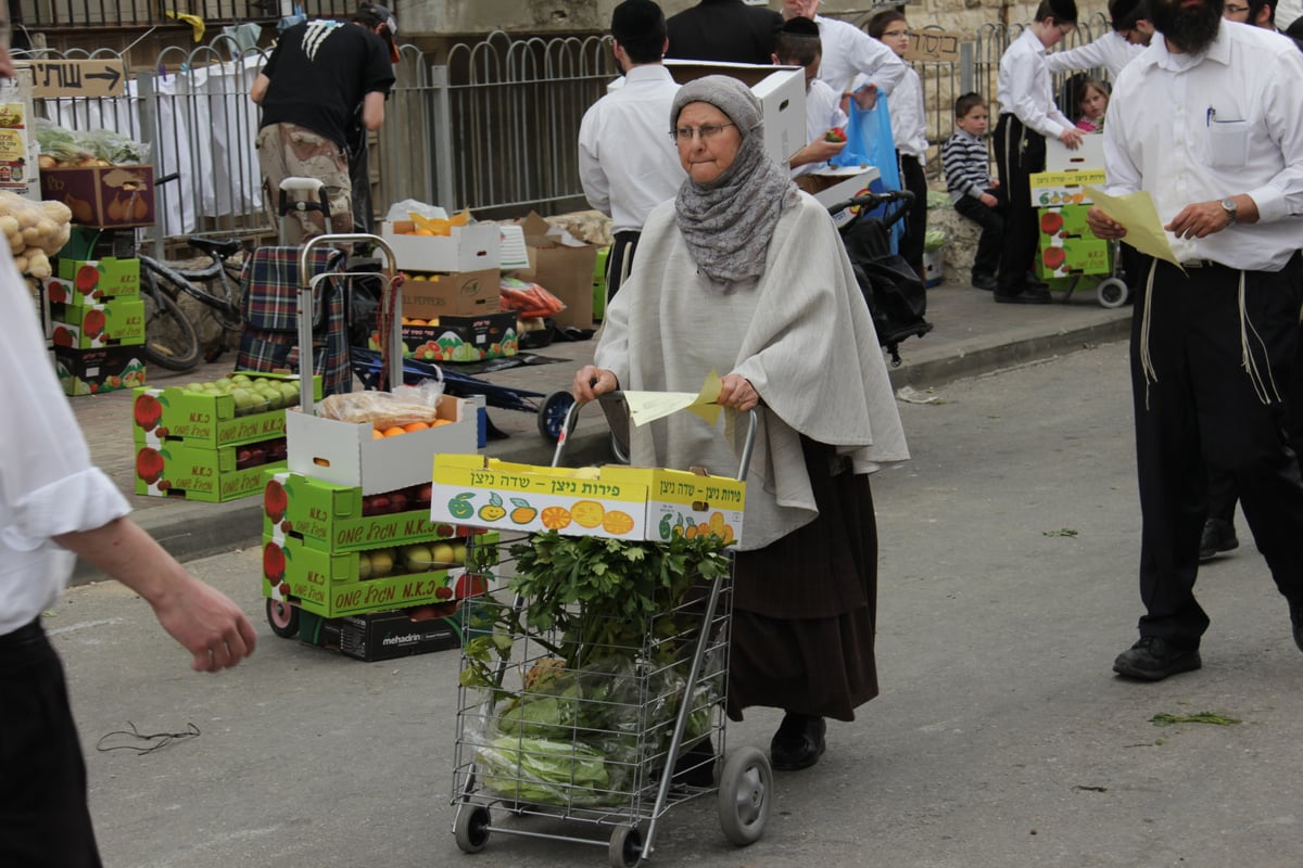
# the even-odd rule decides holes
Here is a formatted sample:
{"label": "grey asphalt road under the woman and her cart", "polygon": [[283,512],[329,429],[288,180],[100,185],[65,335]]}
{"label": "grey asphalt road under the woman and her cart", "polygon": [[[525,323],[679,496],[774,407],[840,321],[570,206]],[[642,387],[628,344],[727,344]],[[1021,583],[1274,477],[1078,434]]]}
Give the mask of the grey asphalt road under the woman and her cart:
{"label": "grey asphalt road under the woman and her cart", "polygon": [[[818,766],[778,776],[758,843],[732,847],[698,802],[667,815],[650,864],[1303,864],[1303,656],[1243,521],[1200,583],[1204,669],[1110,671],[1139,614],[1126,346],[923,397],[902,403],[913,461],[873,483],[882,695],[830,725]],[[455,652],[362,664],[276,639],[257,550],[192,566],[258,619],[233,671],[190,673],[119,586],[70,590],[47,622],[109,868],[606,864],[605,843],[456,848]],[[1199,712],[1240,722],[1153,722]],[[730,746],[767,747],[777,721],[753,711]],[[201,735],[96,751],[129,724]]]}

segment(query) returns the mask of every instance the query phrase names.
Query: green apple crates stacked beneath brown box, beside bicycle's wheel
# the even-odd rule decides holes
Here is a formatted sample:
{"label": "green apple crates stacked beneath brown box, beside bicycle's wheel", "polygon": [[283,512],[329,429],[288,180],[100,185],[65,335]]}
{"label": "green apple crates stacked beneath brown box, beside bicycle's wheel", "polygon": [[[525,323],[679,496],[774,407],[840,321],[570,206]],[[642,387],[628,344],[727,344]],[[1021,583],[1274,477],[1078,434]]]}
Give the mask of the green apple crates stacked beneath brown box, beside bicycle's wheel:
{"label": "green apple crates stacked beneath brown box, beside bicycle's wheel", "polygon": [[46,281],[55,368],[69,396],[143,387],[145,302],[134,230],[74,226]]}

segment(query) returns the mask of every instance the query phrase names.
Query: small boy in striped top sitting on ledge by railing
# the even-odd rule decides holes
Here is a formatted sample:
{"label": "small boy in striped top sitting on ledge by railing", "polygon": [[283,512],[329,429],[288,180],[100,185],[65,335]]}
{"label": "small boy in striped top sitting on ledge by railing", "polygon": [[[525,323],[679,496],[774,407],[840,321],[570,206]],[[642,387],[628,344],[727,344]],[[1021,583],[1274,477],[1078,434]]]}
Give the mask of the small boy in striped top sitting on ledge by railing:
{"label": "small boy in striped top sitting on ledge by railing", "polygon": [[973,258],[972,281],[977,289],[995,289],[995,271],[1005,245],[1005,215],[990,177],[986,154],[986,125],[990,112],[981,94],[964,94],[955,100],[955,126],[959,128],[941,146],[941,167],[946,172],[946,189],[955,211],[981,226],[977,255]]}

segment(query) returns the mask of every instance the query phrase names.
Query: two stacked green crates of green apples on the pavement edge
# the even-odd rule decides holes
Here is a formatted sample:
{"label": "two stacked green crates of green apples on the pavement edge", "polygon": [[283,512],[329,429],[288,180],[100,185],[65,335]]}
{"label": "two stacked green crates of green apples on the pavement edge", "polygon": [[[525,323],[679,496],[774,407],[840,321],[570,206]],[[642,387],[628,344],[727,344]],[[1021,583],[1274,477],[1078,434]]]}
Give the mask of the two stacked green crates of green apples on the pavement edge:
{"label": "two stacked green crates of green apples on the pavement edge", "polygon": [[[190,383],[136,389],[137,495],[223,502],[258,495],[263,470],[285,467],[285,407],[297,403],[297,375],[236,372],[232,377],[232,383],[218,380],[214,388]],[[257,380],[265,384],[255,388]],[[249,388],[242,388],[245,383]],[[274,398],[267,396],[272,388]],[[321,377],[313,377],[318,400],[321,390]]]}

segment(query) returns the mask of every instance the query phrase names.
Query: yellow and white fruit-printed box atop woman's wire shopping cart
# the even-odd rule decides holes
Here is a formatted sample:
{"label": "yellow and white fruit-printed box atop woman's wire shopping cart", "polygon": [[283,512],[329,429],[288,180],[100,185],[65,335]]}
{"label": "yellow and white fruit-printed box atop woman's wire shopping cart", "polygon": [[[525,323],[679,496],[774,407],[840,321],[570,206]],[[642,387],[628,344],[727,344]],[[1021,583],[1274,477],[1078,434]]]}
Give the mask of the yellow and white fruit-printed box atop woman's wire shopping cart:
{"label": "yellow and white fruit-printed box atop woman's wire shopping cart", "polygon": [[483,455],[434,457],[430,517],[512,531],[665,541],[741,537],[747,484],[649,467],[539,467]]}

